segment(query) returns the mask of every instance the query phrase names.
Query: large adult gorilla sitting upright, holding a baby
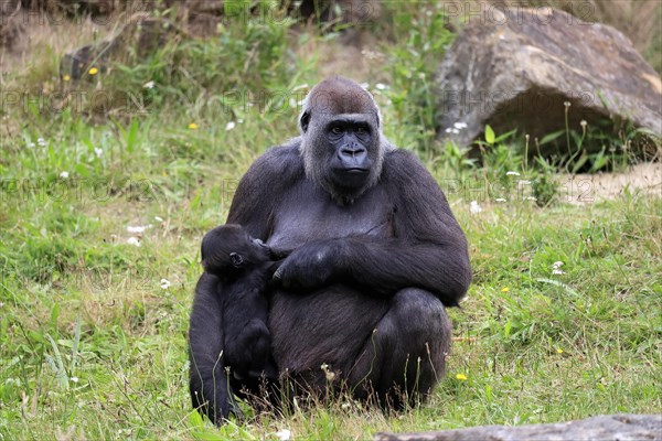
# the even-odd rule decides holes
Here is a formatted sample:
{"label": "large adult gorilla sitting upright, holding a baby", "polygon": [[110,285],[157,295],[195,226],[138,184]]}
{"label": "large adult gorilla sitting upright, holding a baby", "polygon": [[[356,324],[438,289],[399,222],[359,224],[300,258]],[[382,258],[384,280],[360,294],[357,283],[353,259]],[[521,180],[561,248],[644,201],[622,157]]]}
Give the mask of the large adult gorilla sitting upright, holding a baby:
{"label": "large adult gorilla sitting upright, holding a baby", "polygon": [[[451,327],[445,305],[466,293],[465,235],[414,154],[384,139],[380,111],[356,83],[334,77],[306,98],[301,136],[258,158],[227,223],[291,254],[275,275],[268,325],[280,379],[334,384],[398,406],[444,375]],[[213,276],[191,314],[191,395],[212,420],[234,412]],[[323,368],[322,368],[323,366]]]}

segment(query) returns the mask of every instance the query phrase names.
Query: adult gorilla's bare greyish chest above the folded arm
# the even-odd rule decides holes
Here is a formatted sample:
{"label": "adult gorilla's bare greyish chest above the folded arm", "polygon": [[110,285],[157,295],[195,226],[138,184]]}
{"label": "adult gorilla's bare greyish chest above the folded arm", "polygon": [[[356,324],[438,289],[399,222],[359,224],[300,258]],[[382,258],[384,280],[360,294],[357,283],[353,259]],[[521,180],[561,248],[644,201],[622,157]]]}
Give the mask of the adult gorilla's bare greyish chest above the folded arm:
{"label": "adult gorilla's bare greyish chest above the folded arm", "polygon": [[394,205],[378,185],[351,205],[339,205],[321,190],[293,189],[280,207],[274,214],[267,240],[276,249],[295,249],[313,239],[394,235]]}

